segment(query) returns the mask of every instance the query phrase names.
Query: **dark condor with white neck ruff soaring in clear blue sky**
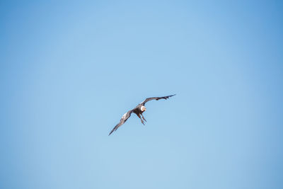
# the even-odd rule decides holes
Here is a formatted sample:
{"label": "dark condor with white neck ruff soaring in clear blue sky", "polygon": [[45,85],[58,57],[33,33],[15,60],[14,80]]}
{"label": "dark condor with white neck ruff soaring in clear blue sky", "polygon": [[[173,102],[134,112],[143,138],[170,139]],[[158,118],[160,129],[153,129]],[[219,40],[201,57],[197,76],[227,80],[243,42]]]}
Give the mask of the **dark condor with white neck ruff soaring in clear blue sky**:
{"label": "dark condor with white neck ruff soaring in clear blue sky", "polygon": [[144,113],[144,111],[146,110],[146,107],[144,106],[145,103],[147,103],[148,101],[152,101],[152,100],[160,100],[160,99],[165,99],[167,100],[167,98],[171,97],[171,96],[175,96],[176,94],[170,95],[170,96],[161,96],[161,97],[151,97],[151,98],[146,98],[144,101],[142,101],[141,103],[139,103],[136,108],[127,111],[127,113],[125,113],[124,115],[122,115],[122,118],[120,120],[120,122],[112,129],[112,131],[108,134],[108,136],[110,134],[112,134],[112,132],[115,132],[121,125],[123,125],[131,116],[132,113],[137,114],[137,117],[139,117],[139,119],[141,120],[141,123],[144,125],[144,122],[146,122],[146,119],[144,118],[144,115],[142,115],[142,113]]}

